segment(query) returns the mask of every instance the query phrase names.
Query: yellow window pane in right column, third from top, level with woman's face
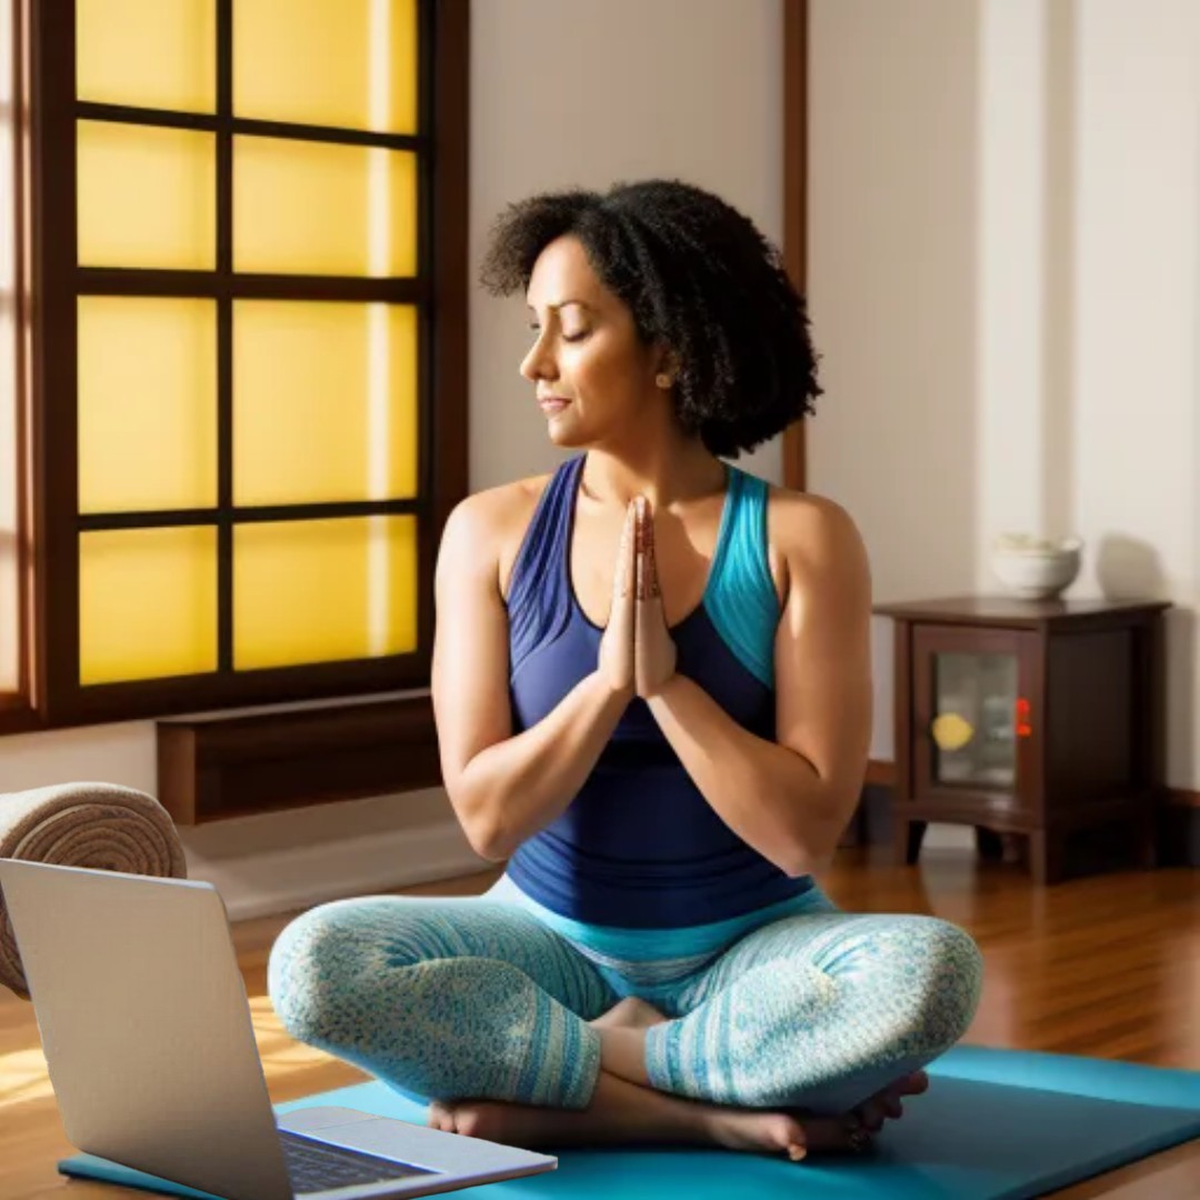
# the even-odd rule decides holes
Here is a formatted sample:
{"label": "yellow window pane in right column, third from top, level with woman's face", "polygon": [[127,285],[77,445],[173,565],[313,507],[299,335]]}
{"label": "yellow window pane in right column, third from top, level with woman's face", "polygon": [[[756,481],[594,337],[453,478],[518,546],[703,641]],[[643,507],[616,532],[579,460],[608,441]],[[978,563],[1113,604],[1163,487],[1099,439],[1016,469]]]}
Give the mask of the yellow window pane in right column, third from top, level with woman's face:
{"label": "yellow window pane in right column, third from top, level with woman's face", "polygon": [[416,494],[416,310],[234,304],[234,500]]}

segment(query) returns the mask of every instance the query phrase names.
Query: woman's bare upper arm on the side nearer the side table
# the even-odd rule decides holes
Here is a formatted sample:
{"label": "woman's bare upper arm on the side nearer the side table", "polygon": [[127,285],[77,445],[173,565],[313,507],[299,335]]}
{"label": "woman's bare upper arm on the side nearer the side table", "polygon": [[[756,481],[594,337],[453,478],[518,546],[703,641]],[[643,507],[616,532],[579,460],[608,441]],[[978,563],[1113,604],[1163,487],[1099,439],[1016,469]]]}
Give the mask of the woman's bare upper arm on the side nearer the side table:
{"label": "woman's bare upper arm on the side nearer the side table", "polygon": [[838,834],[871,743],[871,580],[853,521],[830,500],[781,505],[788,584],[775,634],[776,739],[811,763]]}

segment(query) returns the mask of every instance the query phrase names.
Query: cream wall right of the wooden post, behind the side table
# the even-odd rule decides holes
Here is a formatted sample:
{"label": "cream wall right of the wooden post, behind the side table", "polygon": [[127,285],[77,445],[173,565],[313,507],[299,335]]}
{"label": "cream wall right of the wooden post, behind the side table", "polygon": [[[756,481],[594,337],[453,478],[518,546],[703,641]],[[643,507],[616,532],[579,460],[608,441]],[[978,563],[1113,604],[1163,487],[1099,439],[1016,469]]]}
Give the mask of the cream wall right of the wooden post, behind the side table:
{"label": "cream wall right of the wooden post, behind the side table", "polygon": [[1068,595],[1174,601],[1168,782],[1194,788],[1200,5],[810,8],[812,486],[880,600],[996,590],[989,544],[1028,530],[1086,539]]}

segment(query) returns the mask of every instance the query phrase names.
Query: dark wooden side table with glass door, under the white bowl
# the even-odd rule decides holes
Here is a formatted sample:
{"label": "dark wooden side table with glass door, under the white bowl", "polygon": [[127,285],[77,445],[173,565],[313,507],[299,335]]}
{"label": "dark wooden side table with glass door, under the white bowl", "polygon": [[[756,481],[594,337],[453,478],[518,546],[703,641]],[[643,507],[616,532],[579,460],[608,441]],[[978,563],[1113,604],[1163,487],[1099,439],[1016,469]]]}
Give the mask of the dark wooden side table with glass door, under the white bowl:
{"label": "dark wooden side table with glass door, under the white bowl", "polygon": [[1073,833],[1124,823],[1154,863],[1160,601],[965,596],[877,605],[895,622],[898,862],[930,821],[982,851],[1027,839],[1039,883]]}

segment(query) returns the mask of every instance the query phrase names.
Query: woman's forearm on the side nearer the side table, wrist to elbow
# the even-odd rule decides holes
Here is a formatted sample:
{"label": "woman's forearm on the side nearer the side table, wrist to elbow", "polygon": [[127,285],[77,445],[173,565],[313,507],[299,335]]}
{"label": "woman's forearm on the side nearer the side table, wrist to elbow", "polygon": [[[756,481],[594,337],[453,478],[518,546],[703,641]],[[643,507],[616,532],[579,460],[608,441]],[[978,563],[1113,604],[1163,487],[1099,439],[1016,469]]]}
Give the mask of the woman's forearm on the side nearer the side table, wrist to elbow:
{"label": "woman's forearm on the side nearer the side table, wrist to elbow", "polygon": [[806,758],[738,725],[686,676],[673,676],[647,704],[701,794],[743,841],[792,876],[824,865],[846,805]]}

